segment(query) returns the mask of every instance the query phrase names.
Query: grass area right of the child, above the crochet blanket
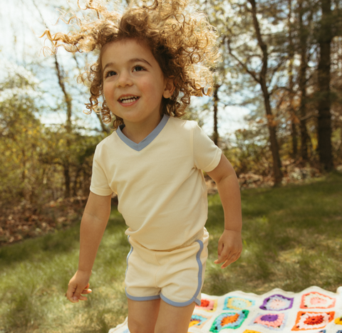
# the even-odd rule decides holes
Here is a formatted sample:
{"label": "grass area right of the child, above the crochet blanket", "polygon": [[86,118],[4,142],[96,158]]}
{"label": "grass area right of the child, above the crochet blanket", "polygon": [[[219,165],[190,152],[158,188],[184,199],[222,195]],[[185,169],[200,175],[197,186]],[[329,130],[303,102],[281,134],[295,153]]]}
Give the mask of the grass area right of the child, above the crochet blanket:
{"label": "grass area right of the child, above the crochet blanket", "polygon": [[[310,285],[336,291],[342,285],[342,174],[300,186],[242,191],[242,257],[220,270],[208,265],[204,292],[298,292]],[[217,257],[223,229],[218,196],[209,198],[209,258]]]}

